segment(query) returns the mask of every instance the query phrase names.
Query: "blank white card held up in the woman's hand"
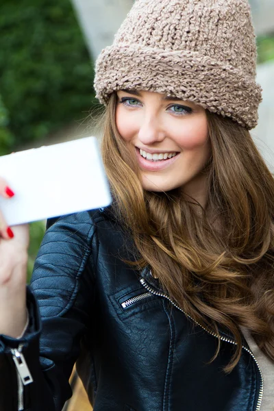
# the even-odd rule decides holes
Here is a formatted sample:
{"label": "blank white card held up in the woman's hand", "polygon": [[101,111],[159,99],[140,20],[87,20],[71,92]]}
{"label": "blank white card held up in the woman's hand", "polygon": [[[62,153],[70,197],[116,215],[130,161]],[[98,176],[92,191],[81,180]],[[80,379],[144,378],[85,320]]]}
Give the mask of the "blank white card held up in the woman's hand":
{"label": "blank white card held up in the woman's hand", "polygon": [[97,139],[81,138],[0,157],[0,176],[15,195],[0,197],[8,225],[108,206]]}

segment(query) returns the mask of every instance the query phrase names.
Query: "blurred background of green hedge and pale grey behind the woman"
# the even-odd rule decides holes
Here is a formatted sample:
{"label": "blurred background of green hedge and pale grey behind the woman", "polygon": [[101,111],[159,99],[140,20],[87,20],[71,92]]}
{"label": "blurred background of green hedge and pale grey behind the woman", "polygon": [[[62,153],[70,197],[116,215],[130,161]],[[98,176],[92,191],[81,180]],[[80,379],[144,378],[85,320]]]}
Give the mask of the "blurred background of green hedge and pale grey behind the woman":
{"label": "blurred background of green hedge and pale grey behind the woman", "polygon": [[[0,155],[92,135],[101,110],[92,89],[93,62],[133,3],[21,0],[18,7],[18,1],[1,0]],[[264,97],[252,136],[274,171],[274,1],[250,4]],[[44,232],[44,221],[32,223],[29,277]],[[65,410],[91,410],[75,375],[72,383],[79,397]]]}

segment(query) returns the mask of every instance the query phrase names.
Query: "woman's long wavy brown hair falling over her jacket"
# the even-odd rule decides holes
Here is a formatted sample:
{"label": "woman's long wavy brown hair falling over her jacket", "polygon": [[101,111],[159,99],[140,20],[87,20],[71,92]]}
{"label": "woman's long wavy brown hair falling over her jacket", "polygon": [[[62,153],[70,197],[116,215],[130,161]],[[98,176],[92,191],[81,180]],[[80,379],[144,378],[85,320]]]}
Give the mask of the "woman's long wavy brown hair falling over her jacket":
{"label": "woman's long wavy brown hair falling over her jacket", "polygon": [[138,250],[136,266],[149,265],[197,323],[217,335],[219,327],[233,334],[236,349],[226,372],[240,358],[240,326],[274,360],[274,180],[250,133],[207,112],[212,158],[203,209],[179,189],[142,189],[115,111],[113,93],[103,116],[102,155],[117,216]]}

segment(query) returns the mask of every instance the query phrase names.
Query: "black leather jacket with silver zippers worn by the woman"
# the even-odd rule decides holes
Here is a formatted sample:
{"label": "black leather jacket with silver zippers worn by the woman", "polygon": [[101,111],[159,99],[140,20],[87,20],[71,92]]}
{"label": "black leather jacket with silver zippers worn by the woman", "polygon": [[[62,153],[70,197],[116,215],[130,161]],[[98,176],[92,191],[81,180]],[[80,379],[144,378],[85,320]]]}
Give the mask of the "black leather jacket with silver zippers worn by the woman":
{"label": "black leather jacket with silver zippers worn by the woman", "polygon": [[[171,304],[149,268],[122,262],[129,239],[108,213],[52,223],[27,290],[27,333],[0,336],[1,411],[62,410],[77,359],[94,411],[260,410],[262,377],[247,343],[225,375],[234,343],[222,332],[220,354],[208,364],[216,336]],[[12,349],[34,380],[19,407]]]}

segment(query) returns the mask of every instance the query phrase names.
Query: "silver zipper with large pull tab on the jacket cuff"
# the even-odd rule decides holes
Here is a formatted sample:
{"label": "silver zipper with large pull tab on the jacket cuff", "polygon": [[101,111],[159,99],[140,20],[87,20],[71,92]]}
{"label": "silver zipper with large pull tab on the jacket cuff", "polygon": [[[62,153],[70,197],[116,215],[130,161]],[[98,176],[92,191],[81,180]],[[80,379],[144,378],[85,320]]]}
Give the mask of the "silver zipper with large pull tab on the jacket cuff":
{"label": "silver zipper with large pull tab on the jacket cuff", "polygon": [[18,385],[18,411],[24,410],[24,386],[31,384],[34,380],[29,371],[29,367],[22,353],[23,345],[19,345],[18,349],[12,349],[12,360],[16,366],[16,376]]}

